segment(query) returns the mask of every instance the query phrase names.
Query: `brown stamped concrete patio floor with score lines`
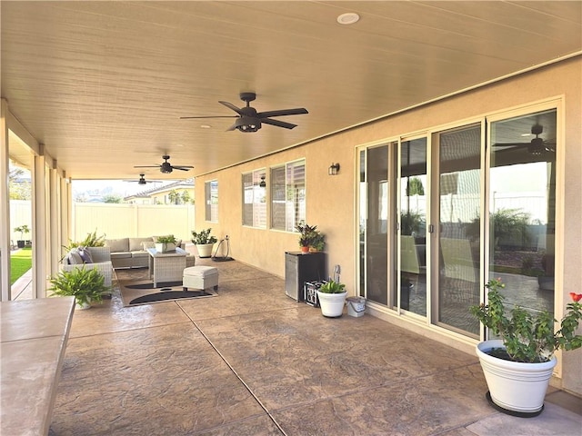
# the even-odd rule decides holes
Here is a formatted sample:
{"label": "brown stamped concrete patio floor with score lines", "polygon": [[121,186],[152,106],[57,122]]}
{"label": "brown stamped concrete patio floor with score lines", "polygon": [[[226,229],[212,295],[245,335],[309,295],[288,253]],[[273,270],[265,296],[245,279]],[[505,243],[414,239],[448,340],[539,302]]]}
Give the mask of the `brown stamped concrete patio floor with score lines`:
{"label": "brown stamped concrete patio floor with score lines", "polygon": [[205,263],[220,273],[216,298],[123,307],[117,289],[75,311],[51,435],[582,431],[565,392],[551,389],[537,418],[504,415],[487,404],[476,356],[368,314],[326,319],[286,297],[279,277]]}

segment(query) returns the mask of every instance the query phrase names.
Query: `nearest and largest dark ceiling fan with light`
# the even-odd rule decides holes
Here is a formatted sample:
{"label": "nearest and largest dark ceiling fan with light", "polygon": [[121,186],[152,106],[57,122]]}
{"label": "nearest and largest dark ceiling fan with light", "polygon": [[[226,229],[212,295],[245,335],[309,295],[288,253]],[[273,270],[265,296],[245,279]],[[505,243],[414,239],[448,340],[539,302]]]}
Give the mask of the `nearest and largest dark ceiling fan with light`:
{"label": "nearest and largest dark ceiling fan with light", "polygon": [[284,121],[273,120],[272,116],[285,115],[299,115],[309,114],[304,107],[297,107],[295,109],[280,109],[278,111],[256,112],[254,107],[251,107],[250,102],[256,99],[255,93],[240,93],[240,99],[246,102],[246,107],[236,107],[236,105],[228,102],[218,102],[224,104],[227,108],[232,109],[237,115],[224,116],[181,116],[180,119],[194,119],[194,118],[236,118],[235,124],[231,125],[226,131],[239,130],[240,132],[252,133],[261,128],[261,124],[271,124],[276,127],[283,127],[286,129],[293,129],[296,124],[286,123]]}

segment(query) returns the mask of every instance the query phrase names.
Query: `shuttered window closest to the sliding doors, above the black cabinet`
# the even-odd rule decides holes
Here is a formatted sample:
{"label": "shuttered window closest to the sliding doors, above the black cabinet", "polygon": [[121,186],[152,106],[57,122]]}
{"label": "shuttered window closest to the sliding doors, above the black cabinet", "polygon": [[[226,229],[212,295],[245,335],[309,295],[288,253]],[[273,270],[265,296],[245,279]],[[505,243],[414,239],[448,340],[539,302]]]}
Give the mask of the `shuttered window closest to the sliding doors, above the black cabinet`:
{"label": "shuttered window closest to the sliding doors, above the black cabinet", "polygon": [[305,220],[305,159],[271,168],[271,228],[293,232]]}

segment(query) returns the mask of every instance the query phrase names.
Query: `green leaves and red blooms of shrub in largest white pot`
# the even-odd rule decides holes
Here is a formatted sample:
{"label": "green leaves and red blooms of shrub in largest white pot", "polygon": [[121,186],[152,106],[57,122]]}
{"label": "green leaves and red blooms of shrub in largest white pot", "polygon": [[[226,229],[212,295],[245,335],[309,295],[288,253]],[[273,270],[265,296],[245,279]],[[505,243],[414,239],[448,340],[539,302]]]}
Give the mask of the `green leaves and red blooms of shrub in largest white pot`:
{"label": "green leaves and red blooms of shrub in largest white pot", "polygon": [[[505,297],[499,291],[505,288],[500,279],[486,284],[488,304],[471,306],[469,311],[477,317],[506,347],[507,360],[514,362],[547,362],[558,349],[576,350],[582,346],[582,335],[576,334],[582,319],[582,293],[570,292],[573,302],[567,304],[567,314],[554,332],[556,320],[547,311],[533,315],[516,306],[507,313]],[[509,316],[507,316],[509,315]],[[503,358],[497,352],[494,355]]]}

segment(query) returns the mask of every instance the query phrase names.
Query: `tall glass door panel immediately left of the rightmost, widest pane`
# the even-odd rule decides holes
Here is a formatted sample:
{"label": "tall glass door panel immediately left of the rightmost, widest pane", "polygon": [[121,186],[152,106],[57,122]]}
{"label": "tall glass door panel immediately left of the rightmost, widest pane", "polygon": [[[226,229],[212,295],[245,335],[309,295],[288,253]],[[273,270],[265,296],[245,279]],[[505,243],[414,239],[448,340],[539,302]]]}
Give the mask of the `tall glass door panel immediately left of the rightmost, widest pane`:
{"label": "tall glass door panel immediately left of the rightmost, widest pane", "polygon": [[481,124],[434,135],[438,216],[434,282],[436,322],[477,336],[479,323],[469,307],[481,289]]}

